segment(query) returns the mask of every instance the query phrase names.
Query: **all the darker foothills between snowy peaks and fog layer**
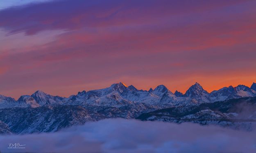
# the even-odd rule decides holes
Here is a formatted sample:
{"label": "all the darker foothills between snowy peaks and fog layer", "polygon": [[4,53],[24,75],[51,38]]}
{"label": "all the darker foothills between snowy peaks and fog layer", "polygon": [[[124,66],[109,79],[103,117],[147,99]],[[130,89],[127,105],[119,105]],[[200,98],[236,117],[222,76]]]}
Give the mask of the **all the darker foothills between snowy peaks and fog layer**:
{"label": "all the darker foothills between snowy peaks and fog layer", "polygon": [[165,122],[214,124],[250,131],[256,124],[256,97],[193,106],[161,107],[136,103],[122,107],[45,105],[0,109],[0,132],[54,132],[73,125],[105,118],[126,118]]}

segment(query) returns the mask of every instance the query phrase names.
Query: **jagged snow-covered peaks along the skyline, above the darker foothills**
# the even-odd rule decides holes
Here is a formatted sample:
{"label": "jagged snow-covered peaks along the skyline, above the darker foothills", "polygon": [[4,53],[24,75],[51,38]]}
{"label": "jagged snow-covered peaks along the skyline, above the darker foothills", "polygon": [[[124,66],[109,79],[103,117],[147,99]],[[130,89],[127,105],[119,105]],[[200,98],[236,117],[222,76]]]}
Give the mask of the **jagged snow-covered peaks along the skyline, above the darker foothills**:
{"label": "jagged snow-covered peaks along the skyline, above the darker foothills", "polygon": [[251,88],[238,85],[229,86],[220,90],[208,93],[199,83],[195,83],[183,95],[175,91],[173,94],[164,85],[157,86],[154,90],[138,90],[135,86],[127,86],[124,83],[112,84],[108,88],[82,91],[69,98],[52,96],[43,91],[36,91],[32,95],[22,95],[17,101],[13,98],[0,96],[0,108],[13,107],[39,107],[46,104],[50,105],[95,105],[121,107],[128,104],[145,103],[157,106],[190,106],[201,103],[211,103],[216,101],[229,100],[233,98],[254,97],[256,84]]}

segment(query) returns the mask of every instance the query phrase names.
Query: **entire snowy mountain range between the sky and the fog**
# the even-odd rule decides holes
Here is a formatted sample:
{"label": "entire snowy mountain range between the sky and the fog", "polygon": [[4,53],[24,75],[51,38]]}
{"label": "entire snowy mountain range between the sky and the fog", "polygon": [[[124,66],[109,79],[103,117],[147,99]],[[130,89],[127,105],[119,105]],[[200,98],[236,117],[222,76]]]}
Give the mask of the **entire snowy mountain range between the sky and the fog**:
{"label": "entire snowy mountain range between the sky and the fog", "polygon": [[54,132],[105,118],[215,124],[251,130],[256,126],[256,84],[208,93],[198,83],[186,93],[164,85],[138,90],[124,83],[82,91],[68,98],[36,91],[18,100],[0,95],[0,134]]}

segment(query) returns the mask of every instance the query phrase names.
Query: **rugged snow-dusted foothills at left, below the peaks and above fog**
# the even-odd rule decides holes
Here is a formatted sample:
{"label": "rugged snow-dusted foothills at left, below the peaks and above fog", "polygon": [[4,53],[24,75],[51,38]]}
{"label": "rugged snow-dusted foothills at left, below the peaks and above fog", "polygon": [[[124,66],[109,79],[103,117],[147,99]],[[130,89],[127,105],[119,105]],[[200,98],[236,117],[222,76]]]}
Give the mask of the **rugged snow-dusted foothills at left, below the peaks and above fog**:
{"label": "rugged snow-dusted foothills at left, below the peaks and above fog", "polygon": [[[141,113],[160,109],[147,104],[131,104],[122,107],[45,105],[36,108],[0,109],[0,132],[41,133],[54,132],[72,125],[84,124],[105,118],[136,118]],[[1,124],[1,121],[6,124]]]}

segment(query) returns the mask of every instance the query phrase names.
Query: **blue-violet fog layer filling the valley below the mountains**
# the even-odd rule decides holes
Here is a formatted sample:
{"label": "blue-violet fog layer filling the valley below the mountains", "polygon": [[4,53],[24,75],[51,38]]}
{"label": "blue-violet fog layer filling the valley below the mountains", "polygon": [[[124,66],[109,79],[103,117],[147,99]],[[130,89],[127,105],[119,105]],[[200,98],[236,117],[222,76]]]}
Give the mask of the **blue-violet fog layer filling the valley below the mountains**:
{"label": "blue-violet fog layer filling the valley below the mountains", "polygon": [[[56,133],[0,136],[2,152],[216,153],[256,152],[256,131],[217,126],[106,119]],[[25,149],[7,149],[9,143]]]}

